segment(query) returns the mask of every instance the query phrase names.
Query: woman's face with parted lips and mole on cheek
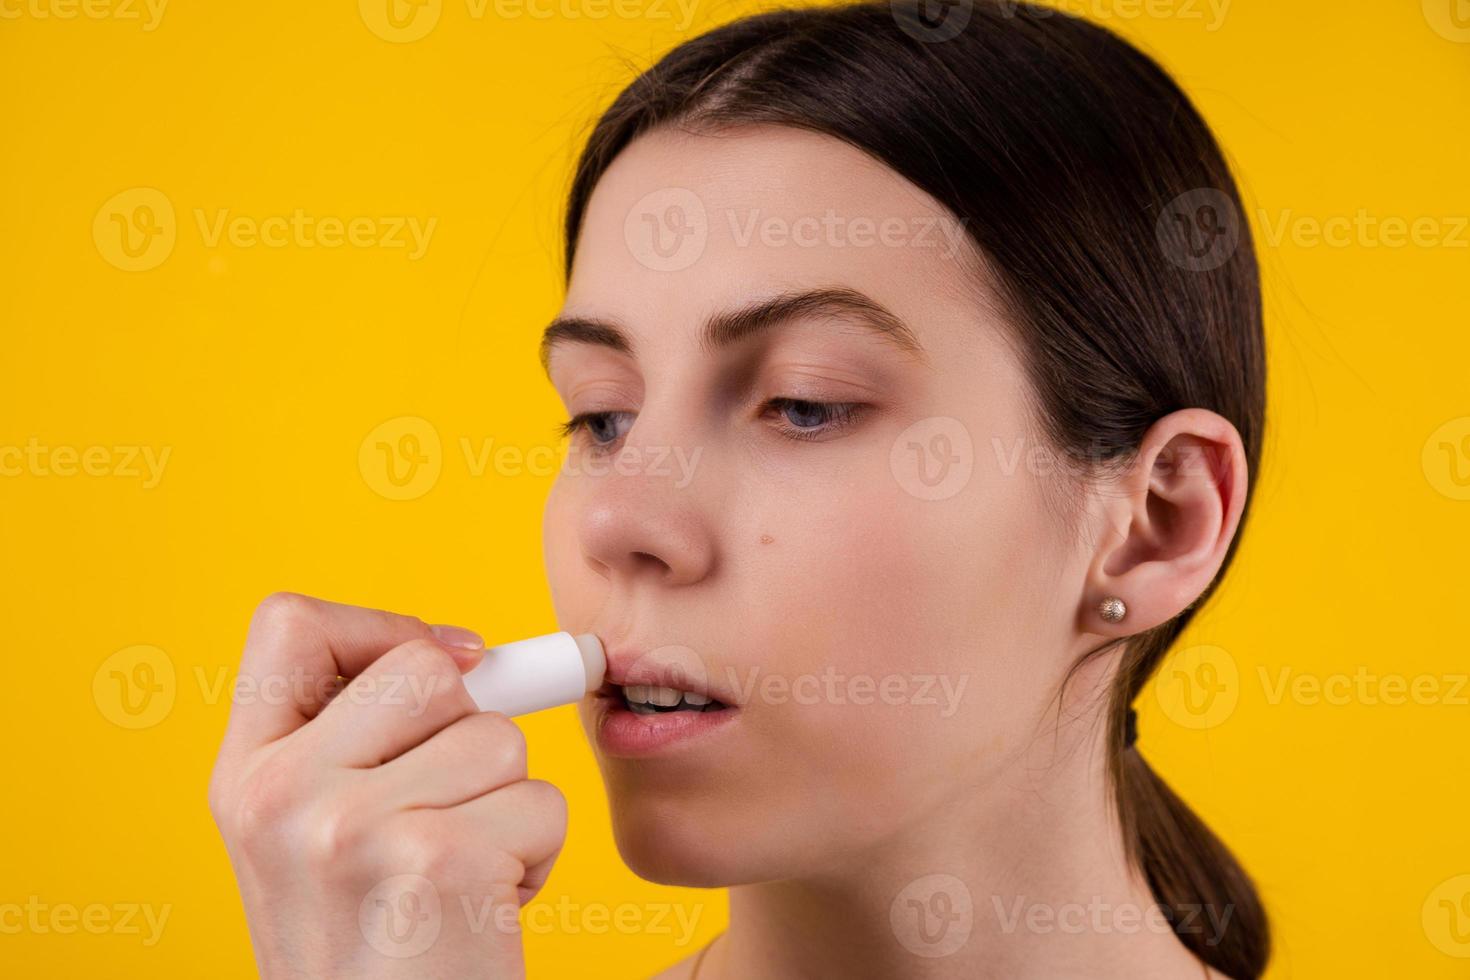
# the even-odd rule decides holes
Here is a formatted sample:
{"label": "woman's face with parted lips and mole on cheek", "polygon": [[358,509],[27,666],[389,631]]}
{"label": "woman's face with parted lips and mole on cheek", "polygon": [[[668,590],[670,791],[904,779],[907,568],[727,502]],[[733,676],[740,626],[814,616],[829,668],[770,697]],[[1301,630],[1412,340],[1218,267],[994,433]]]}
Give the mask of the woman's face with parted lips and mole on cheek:
{"label": "woman's face with parted lips and mole on cheek", "polygon": [[828,137],[656,131],[598,182],[559,322],[592,414],[545,508],[557,619],[613,682],[728,705],[584,702],[628,864],[820,873],[986,805],[1086,555],[957,219]]}

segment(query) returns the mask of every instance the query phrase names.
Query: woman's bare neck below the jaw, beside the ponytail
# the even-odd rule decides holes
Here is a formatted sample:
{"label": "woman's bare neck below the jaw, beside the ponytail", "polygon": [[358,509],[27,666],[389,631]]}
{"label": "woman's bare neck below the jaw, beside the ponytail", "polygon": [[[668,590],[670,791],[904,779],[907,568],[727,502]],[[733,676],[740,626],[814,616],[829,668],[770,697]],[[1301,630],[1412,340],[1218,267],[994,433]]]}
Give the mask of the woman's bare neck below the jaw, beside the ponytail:
{"label": "woman's bare neck below the jaw, beside the ponytail", "polygon": [[732,887],[700,980],[1204,976],[1125,860],[1100,748],[1042,741],[841,867]]}

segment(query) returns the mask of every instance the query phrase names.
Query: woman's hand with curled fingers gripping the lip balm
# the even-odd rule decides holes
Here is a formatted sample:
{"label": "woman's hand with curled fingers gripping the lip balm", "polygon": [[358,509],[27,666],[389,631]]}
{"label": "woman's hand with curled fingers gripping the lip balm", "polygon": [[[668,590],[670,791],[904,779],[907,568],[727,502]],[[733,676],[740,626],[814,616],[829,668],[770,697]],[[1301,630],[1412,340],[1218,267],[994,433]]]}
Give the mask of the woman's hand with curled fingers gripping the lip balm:
{"label": "woman's hand with curled fingers gripping the lip balm", "polygon": [[482,654],[456,633],[293,594],[256,610],[209,805],[262,976],[523,976],[517,911],[566,801],[470,701]]}

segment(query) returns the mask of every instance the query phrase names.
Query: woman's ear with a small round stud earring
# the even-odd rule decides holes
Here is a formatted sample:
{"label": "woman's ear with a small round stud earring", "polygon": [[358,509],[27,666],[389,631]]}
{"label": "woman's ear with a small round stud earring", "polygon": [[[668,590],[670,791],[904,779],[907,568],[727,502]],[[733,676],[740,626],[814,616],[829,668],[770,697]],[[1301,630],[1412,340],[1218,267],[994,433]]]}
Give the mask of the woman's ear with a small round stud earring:
{"label": "woman's ear with a small round stud earring", "polygon": [[[1200,598],[1225,561],[1245,510],[1241,433],[1204,408],[1155,422],[1126,470],[1100,485],[1102,533],[1088,569],[1080,627],[1130,636]],[[1126,613],[1104,619],[1119,598]]]}

